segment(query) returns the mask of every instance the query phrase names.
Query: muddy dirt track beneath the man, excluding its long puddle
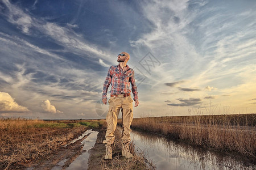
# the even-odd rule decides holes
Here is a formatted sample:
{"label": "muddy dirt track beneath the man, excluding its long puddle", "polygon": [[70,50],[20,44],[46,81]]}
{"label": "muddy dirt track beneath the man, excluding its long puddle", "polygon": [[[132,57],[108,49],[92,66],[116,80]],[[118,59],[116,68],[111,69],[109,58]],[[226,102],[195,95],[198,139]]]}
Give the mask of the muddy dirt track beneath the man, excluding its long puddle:
{"label": "muddy dirt track beneath the man, excluding its long puddle", "polygon": [[[121,156],[122,147],[121,147],[121,133],[120,131],[115,132],[115,147],[113,147],[113,159],[105,160],[105,145],[102,143],[105,139],[105,131],[106,129],[94,129],[94,131],[98,131],[96,143],[90,150],[82,150],[83,145],[81,144],[84,139],[86,139],[90,134],[85,135],[85,137],[80,140],[68,145],[67,147],[61,148],[54,155],[50,155],[46,160],[41,160],[38,163],[31,164],[30,168],[26,168],[26,170],[31,169],[68,169],[71,168],[72,164],[77,157],[82,155],[84,152],[89,152],[88,158],[88,168],[90,170],[100,170],[100,169],[148,169],[144,162],[144,158],[141,155],[134,154],[134,158],[126,159]],[[75,163],[75,162],[74,162]],[[86,168],[86,166],[84,166]],[[80,168],[75,168],[80,169]]]}

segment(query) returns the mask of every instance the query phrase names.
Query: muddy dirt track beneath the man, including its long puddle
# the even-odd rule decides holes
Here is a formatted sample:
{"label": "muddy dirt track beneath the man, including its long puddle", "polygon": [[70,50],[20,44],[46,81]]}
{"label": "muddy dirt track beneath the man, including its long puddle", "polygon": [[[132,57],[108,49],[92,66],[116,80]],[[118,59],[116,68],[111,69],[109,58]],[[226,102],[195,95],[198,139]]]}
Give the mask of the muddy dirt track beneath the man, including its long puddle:
{"label": "muddy dirt track beneath the man, including its long puddle", "polygon": [[106,129],[87,130],[76,141],[69,142],[68,146],[61,148],[45,160],[31,164],[26,170],[31,169],[149,169],[143,155],[131,152],[134,158],[126,159],[122,156],[121,130],[115,131],[115,146],[113,147],[112,160],[105,160],[106,149],[104,143]]}

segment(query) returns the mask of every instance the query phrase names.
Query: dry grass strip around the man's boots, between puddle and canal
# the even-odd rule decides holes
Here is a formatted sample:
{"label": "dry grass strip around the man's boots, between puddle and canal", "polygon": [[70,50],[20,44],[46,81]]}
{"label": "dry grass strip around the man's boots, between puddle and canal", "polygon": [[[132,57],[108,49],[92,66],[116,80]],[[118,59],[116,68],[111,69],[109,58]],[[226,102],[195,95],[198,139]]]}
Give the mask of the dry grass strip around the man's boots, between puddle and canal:
{"label": "dry grass strip around the man's boots, between puddle and canal", "polygon": [[134,155],[133,158],[126,159],[122,156],[122,143],[121,143],[121,128],[115,130],[115,146],[113,147],[113,156],[112,160],[101,160],[102,169],[115,169],[115,170],[130,170],[130,169],[154,169],[154,167],[148,167],[146,165],[146,159],[143,152],[135,152],[135,145],[131,142],[130,152]]}

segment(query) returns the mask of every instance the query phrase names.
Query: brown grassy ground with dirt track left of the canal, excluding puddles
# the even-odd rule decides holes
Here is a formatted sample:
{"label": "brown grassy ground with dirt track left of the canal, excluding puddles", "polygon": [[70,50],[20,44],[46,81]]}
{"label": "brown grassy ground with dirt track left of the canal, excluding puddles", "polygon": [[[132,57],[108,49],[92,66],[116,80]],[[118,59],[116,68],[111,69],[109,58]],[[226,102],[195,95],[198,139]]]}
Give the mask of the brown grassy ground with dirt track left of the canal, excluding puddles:
{"label": "brown grassy ground with dirt track left of the canal, excluding puddles", "polygon": [[[64,147],[79,137],[86,129],[99,131],[96,145],[90,152],[90,169],[148,169],[143,154],[135,154],[133,159],[121,155],[121,131],[115,131],[116,140],[113,160],[104,160],[105,120],[28,120],[20,118],[0,119],[0,169],[51,169],[61,159],[68,159],[68,167],[81,154],[80,139],[72,146]],[[67,155],[63,155],[67,154]],[[68,157],[68,158],[67,158]]]}

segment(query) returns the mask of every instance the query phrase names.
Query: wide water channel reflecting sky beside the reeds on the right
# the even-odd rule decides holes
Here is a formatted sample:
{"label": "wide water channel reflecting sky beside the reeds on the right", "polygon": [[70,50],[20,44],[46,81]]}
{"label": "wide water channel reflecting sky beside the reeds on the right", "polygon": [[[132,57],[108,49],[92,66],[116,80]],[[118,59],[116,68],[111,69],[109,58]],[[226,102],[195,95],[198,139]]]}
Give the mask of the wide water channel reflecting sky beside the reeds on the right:
{"label": "wide water channel reflecting sky beside the reeds on the right", "polygon": [[170,141],[159,135],[131,132],[137,150],[143,151],[156,169],[256,169],[242,162],[203,148]]}

